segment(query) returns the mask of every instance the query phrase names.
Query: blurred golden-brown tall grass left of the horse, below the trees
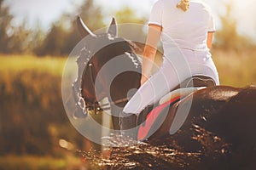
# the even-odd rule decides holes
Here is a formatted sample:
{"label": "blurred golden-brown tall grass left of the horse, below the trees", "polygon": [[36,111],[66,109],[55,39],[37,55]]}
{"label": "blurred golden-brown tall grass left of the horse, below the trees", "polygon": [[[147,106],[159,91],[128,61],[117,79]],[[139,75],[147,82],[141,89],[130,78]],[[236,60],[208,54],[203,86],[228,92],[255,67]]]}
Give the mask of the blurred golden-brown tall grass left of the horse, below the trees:
{"label": "blurred golden-brown tall grass left of the horse, below the trees", "polygon": [[72,127],[62,105],[65,60],[25,56],[0,60],[4,65],[0,69],[1,155],[60,156],[59,139],[82,147],[84,138]]}

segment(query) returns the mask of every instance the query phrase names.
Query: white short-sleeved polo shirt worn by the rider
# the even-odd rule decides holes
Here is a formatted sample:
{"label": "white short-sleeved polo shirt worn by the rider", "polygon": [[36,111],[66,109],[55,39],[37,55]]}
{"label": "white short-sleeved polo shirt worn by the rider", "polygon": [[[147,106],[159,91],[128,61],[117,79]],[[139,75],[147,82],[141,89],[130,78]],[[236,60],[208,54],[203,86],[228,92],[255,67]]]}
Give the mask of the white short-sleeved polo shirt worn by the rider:
{"label": "white short-sleeved polo shirt worn by the rider", "polygon": [[164,50],[179,48],[209,50],[207,32],[215,31],[211,9],[202,2],[190,1],[189,10],[177,8],[180,0],[159,0],[154,3],[148,25],[162,27],[161,42]]}

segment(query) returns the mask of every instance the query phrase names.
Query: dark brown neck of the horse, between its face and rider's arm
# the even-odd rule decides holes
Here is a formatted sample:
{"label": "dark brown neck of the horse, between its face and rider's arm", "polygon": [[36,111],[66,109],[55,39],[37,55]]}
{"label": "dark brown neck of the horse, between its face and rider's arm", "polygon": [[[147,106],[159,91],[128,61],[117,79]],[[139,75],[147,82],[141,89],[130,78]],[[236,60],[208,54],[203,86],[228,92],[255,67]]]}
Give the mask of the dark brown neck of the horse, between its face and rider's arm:
{"label": "dark brown neck of the horse, between its face and rider's arm", "polygon": [[[120,52],[121,53],[121,52]],[[141,65],[136,54],[125,53],[118,57],[97,60],[97,77],[101,78],[101,84],[107,97],[112,100],[127,98],[134,89],[140,87]],[[103,70],[103,71],[102,71]],[[98,73],[102,75],[98,75]]]}

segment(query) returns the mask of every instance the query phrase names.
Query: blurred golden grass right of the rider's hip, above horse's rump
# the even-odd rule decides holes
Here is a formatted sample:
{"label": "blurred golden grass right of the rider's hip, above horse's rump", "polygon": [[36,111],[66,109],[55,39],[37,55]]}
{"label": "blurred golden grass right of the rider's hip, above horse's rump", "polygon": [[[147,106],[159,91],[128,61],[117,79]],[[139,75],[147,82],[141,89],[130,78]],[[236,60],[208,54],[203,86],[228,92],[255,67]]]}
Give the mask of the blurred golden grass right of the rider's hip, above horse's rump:
{"label": "blurred golden grass right of the rider's hip, above horse's rump", "polygon": [[217,66],[220,83],[234,87],[256,85],[256,51],[212,50],[212,58]]}

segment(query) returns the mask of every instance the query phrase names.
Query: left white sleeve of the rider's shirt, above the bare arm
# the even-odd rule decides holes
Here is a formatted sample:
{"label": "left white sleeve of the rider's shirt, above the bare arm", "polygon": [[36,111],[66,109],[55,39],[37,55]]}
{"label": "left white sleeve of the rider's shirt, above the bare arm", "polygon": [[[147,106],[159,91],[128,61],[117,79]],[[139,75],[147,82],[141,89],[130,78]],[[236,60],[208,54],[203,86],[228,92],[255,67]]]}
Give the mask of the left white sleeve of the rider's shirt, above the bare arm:
{"label": "left white sleeve of the rider's shirt, above the bare arm", "polygon": [[154,3],[149,16],[148,25],[162,26],[162,7],[160,1]]}

